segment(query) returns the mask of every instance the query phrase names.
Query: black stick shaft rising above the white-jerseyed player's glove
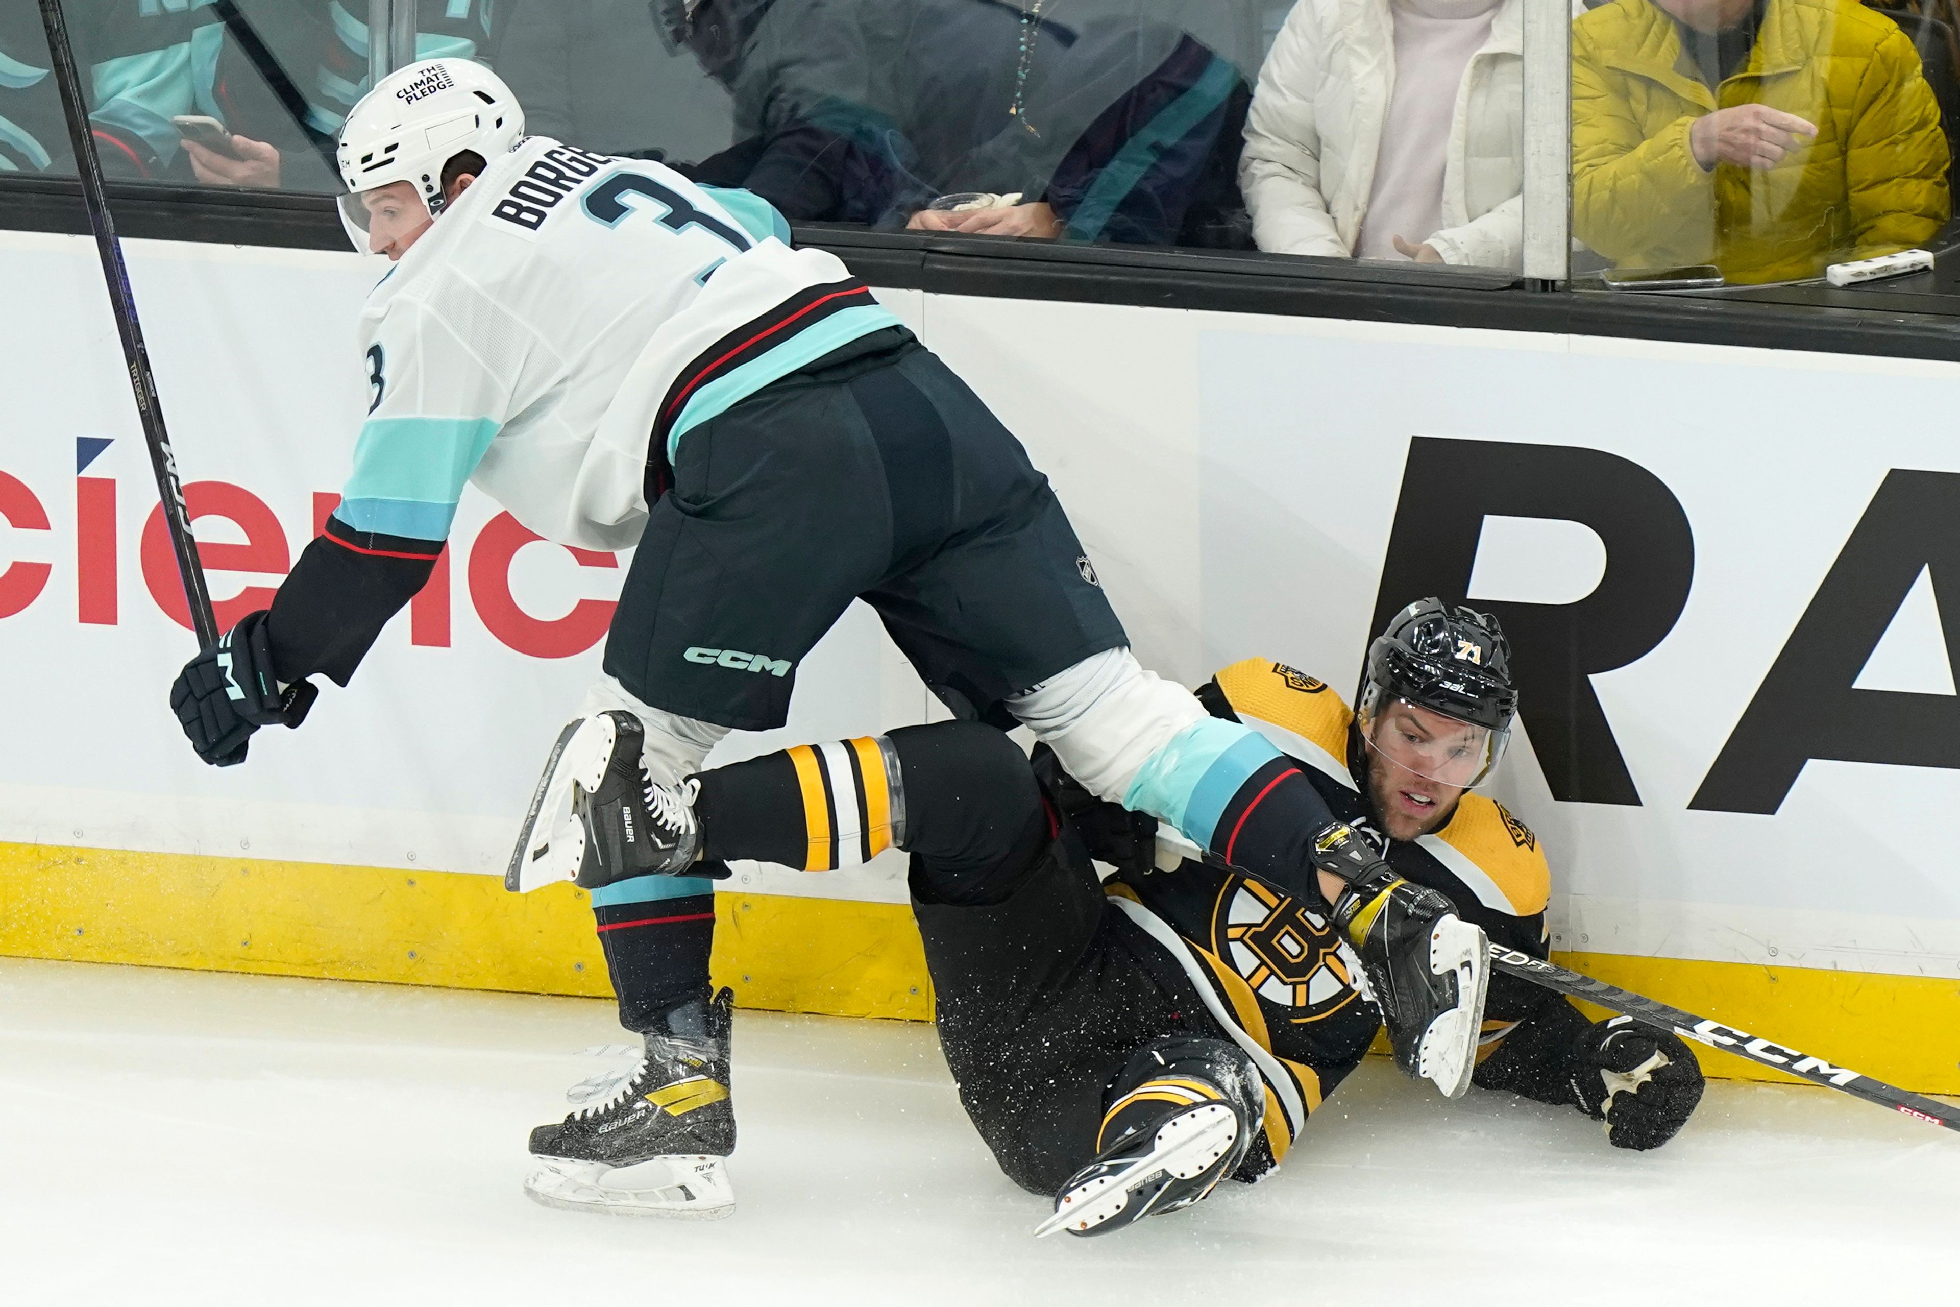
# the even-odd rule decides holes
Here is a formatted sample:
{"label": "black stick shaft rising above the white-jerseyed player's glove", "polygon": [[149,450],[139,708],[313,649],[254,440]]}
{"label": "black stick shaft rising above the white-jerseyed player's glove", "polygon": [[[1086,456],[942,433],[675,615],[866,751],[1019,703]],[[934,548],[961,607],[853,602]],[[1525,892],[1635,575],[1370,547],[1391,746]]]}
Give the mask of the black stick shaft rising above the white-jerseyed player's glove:
{"label": "black stick shaft rising above the white-jerseyed player's glove", "polygon": [[69,22],[61,0],[41,0],[41,25],[47,27],[47,51],[55,63],[55,82],[61,86],[61,106],[69,118],[69,139],[74,143],[74,170],[82,180],[82,200],[88,206],[88,225],[96,233],[96,255],[102,257],[102,280],[110,288],[110,310],[116,314],[116,333],[122,337],[123,363],[129,364],[129,390],[135,392],[137,415],[143,419],[143,439],[149,462],[157,472],[157,494],[163,500],[163,521],[171,531],[176,570],[184,578],[184,598],[190,604],[190,625],[204,647],[218,643],[218,617],[212,613],[212,594],[204,584],[204,564],[198,558],[196,537],[190,535],[190,511],[184,508],[184,488],[176,480],[176,457],[171,453],[171,433],[163,425],[163,406],[157,400],[157,378],[149,370],[149,351],[143,349],[143,327],[135,317],[135,296],[129,294],[129,268],[123,266],[122,241],[110,218],[102,188],[102,157],[88,125],[88,98],[74,73],[74,49],[69,45]]}

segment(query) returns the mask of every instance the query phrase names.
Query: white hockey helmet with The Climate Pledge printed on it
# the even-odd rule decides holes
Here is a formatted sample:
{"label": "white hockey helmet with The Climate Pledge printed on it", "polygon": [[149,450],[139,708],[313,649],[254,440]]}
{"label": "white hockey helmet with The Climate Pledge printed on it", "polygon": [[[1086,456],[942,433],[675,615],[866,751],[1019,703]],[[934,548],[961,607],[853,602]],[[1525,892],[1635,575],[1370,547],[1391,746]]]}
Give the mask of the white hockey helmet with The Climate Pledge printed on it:
{"label": "white hockey helmet with The Climate Pledge printed on it", "polygon": [[347,194],[341,223],[363,255],[361,194],[410,182],[429,216],[443,212],[443,165],[463,151],[492,161],[523,139],[523,108],[490,69],[468,59],[423,59],[384,76],[341,125],[339,167]]}

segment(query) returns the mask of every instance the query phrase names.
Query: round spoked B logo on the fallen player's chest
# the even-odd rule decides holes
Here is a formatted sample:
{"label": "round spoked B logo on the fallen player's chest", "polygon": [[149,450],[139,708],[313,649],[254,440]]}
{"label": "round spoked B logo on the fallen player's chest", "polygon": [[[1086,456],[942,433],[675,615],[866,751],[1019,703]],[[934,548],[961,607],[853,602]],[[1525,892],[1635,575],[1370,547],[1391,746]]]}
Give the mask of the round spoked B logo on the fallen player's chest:
{"label": "round spoked B logo on the fallen player's chest", "polygon": [[1211,935],[1213,952],[1262,999],[1292,1007],[1296,1025],[1331,1017],[1360,997],[1352,984],[1360,958],[1333,927],[1258,882],[1225,882]]}

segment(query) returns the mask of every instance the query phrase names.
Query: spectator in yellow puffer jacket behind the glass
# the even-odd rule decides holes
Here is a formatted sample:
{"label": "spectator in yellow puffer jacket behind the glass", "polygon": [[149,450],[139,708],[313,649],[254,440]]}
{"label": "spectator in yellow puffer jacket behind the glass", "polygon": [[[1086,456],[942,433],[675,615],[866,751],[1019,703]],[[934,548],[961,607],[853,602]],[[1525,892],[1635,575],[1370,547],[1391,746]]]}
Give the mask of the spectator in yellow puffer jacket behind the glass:
{"label": "spectator in yellow puffer jacket behind the glass", "polygon": [[1619,266],[1774,282],[1923,245],[1946,167],[1917,51],[1856,0],[1615,0],[1572,25],[1572,233]]}

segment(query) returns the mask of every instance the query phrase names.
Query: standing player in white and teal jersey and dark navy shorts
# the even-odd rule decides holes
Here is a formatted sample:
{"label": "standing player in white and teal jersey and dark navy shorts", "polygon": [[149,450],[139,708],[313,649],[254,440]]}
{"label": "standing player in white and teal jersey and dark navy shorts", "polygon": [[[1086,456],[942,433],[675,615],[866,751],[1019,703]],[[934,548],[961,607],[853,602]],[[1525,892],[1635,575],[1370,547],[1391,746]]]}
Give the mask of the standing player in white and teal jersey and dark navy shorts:
{"label": "standing player in white and teal jersey and dark navy shorts", "polygon": [[[1362,950],[1397,976],[1390,1037],[1462,1089],[1482,931],[1390,876],[1264,737],[1137,664],[1047,478],[843,263],[792,249],[745,192],[525,139],[510,88],[466,61],[382,80],[339,167],[351,237],[394,259],[361,319],[353,468],[270,609],[186,664],[171,703],[218,766],[300,725],[308,678],[345,686],[427,582],[466,482],[547,539],[635,547],[606,678],[551,750],[508,880],[592,890],[645,1056],[533,1131],[533,1197],[731,1209],[729,995],[708,982],[725,868],[672,856],[670,786],[729,729],[784,723],[798,662],[855,598],[956,715],[1021,721],[1207,856],[1392,923]],[[874,825],[839,829],[837,856],[874,856]]]}

